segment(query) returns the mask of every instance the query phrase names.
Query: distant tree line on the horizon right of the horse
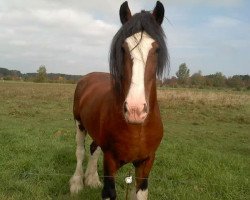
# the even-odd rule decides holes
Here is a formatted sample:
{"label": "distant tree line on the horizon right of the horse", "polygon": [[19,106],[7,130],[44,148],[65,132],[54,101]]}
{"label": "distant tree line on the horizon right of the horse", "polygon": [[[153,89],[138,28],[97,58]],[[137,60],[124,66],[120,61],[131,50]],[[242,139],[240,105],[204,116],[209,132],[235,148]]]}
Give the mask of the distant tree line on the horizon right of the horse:
{"label": "distant tree line on the horizon right of the horse", "polygon": [[202,75],[198,71],[190,75],[186,63],[179,66],[176,76],[165,78],[161,86],[168,87],[195,87],[195,88],[234,88],[236,90],[247,89],[250,90],[250,76],[249,75],[234,75],[226,77],[221,72],[210,75]]}

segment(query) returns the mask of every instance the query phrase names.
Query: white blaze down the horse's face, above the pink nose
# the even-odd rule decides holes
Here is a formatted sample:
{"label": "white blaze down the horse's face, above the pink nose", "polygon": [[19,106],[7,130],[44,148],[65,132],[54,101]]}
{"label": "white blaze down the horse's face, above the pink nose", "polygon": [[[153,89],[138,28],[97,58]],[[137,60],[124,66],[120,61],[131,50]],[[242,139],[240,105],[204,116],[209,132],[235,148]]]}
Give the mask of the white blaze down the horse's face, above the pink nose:
{"label": "white blaze down the horse's face, above the pink nose", "polygon": [[129,107],[146,103],[144,74],[149,50],[154,40],[145,32],[136,33],[126,39],[133,60],[132,79],[126,98]]}

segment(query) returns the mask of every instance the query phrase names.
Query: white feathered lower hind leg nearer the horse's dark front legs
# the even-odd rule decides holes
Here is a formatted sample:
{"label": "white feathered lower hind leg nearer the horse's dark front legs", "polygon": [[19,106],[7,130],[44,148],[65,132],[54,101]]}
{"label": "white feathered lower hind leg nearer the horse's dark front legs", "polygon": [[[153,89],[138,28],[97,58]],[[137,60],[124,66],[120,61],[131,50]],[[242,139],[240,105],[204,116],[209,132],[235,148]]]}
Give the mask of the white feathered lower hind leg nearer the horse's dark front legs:
{"label": "white feathered lower hind leg nearer the horse's dark front legs", "polygon": [[97,147],[93,155],[91,155],[89,158],[84,180],[84,183],[87,186],[96,188],[102,185],[97,172],[97,162],[101,152],[101,148]]}

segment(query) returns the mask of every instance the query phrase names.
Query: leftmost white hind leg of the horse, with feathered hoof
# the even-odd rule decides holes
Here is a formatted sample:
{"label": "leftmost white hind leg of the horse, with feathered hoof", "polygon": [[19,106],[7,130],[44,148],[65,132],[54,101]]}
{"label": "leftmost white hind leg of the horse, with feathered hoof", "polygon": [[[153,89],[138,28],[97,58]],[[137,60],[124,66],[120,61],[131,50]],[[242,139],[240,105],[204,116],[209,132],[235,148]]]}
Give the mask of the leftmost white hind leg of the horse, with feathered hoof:
{"label": "leftmost white hind leg of the horse, with feathered hoof", "polygon": [[70,192],[76,194],[83,189],[83,168],[82,162],[84,159],[84,139],[86,133],[79,129],[80,123],[76,121],[76,170],[70,179]]}

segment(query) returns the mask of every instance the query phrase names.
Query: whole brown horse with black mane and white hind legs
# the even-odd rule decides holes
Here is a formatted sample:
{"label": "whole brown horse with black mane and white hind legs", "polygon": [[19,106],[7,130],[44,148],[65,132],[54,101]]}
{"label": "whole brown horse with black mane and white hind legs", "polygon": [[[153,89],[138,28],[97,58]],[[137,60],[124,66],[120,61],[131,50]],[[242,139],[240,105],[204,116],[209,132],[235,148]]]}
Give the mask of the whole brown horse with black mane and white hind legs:
{"label": "whole brown horse with black mane and white hind legs", "polygon": [[[74,96],[77,166],[70,180],[71,193],[85,185],[100,186],[97,160],[104,154],[103,199],[116,199],[117,170],[135,167],[135,199],[147,199],[148,176],[163,136],[156,94],[156,77],[168,64],[161,28],[164,7],[157,1],[153,12],[131,15],[128,3],[120,7],[122,27],[113,38],[110,74],[91,73],[77,84]],[[83,175],[84,139],[93,139],[90,160]]]}

